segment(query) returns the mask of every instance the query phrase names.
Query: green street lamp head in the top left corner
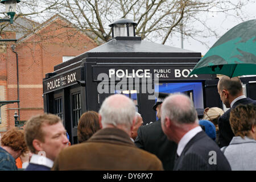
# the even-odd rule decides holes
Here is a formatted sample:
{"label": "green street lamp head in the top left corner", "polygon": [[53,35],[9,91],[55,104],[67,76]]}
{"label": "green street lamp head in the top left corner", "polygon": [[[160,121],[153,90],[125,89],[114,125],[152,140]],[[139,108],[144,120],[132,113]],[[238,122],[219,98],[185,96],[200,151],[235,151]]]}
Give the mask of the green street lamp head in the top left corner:
{"label": "green street lamp head in the top left corner", "polygon": [[0,19],[4,22],[10,22],[10,24],[13,24],[13,18],[16,12],[16,3],[19,3],[19,0],[1,0],[1,3],[5,4],[6,13],[10,16],[10,19]]}

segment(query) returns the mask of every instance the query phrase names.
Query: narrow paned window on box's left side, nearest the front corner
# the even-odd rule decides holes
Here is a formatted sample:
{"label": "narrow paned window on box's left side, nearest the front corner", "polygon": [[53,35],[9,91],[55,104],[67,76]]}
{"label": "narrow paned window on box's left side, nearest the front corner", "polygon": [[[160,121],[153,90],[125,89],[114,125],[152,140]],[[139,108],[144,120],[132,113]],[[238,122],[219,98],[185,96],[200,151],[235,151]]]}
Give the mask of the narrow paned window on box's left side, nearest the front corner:
{"label": "narrow paned window on box's left side, nearest the front corner", "polygon": [[73,127],[78,125],[79,118],[81,117],[81,94],[72,94],[72,121]]}

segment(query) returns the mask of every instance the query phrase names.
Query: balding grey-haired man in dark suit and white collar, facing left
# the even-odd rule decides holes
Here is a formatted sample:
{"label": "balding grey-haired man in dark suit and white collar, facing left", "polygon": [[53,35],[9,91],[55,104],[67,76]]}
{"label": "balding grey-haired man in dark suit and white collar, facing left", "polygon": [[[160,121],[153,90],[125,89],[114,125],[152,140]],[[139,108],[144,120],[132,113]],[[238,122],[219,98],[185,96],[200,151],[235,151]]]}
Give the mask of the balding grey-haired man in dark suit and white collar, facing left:
{"label": "balding grey-haired man in dark suit and white collar, facing left", "polygon": [[167,138],[178,145],[174,170],[231,170],[220,148],[199,126],[188,96],[173,94],[164,100],[161,124]]}

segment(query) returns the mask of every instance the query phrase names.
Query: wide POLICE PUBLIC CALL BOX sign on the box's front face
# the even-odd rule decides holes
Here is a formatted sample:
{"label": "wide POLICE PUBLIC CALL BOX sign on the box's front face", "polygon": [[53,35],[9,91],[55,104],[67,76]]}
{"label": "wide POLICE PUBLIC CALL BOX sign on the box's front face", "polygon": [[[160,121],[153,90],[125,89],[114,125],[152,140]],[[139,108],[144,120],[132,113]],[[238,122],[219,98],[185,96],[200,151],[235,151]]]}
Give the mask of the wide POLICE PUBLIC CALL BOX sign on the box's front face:
{"label": "wide POLICE PUBLIC CALL BOX sign on the box's front face", "polygon": [[151,78],[154,80],[158,78],[159,80],[202,80],[210,79],[211,75],[191,75],[193,66],[174,66],[174,67],[93,67],[93,81],[101,81],[102,74],[108,76],[108,78]]}

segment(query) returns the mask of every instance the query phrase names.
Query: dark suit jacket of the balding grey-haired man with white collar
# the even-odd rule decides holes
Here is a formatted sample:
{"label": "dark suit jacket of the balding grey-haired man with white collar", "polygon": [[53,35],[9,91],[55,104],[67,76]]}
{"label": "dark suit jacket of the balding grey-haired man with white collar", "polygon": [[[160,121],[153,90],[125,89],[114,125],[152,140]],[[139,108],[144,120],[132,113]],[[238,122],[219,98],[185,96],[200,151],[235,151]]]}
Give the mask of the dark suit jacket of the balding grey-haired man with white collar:
{"label": "dark suit jacket of the balding grey-haired man with white collar", "polygon": [[211,138],[200,131],[193,137],[179,158],[176,159],[175,171],[230,171],[230,165],[220,148]]}

